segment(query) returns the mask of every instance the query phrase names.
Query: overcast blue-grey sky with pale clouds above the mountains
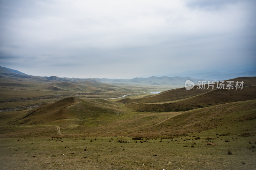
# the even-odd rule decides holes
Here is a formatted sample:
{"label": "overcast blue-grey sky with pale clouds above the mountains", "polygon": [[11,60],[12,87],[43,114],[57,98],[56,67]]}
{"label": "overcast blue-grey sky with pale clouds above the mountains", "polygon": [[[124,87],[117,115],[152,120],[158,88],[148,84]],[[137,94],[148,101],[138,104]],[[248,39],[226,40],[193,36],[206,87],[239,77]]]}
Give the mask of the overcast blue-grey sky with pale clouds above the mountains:
{"label": "overcast blue-grey sky with pale clouds above the mountains", "polygon": [[255,0],[0,0],[0,66],[150,77],[256,67]]}

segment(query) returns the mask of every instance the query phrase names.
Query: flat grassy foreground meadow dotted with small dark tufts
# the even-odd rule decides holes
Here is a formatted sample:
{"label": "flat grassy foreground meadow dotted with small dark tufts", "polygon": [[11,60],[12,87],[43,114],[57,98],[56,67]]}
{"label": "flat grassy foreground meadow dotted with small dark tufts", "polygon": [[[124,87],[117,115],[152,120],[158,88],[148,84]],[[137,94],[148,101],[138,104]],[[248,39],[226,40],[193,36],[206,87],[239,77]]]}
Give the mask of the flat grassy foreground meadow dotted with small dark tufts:
{"label": "flat grassy foreground meadow dotted with small dark tufts", "polygon": [[254,120],[183,136],[137,140],[61,135],[1,138],[0,168],[255,169],[256,128],[252,124]]}

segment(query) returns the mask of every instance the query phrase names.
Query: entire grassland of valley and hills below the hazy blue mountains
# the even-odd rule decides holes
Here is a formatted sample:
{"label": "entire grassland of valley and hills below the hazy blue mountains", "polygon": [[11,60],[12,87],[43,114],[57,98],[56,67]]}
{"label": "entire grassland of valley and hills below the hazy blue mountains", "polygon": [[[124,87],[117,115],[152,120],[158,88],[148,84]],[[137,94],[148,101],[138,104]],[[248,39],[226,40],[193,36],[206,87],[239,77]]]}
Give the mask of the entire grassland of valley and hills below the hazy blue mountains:
{"label": "entire grassland of valley and hills below the hazy blue mountains", "polygon": [[0,168],[255,169],[256,83],[244,80],[242,90],[152,95],[164,87],[5,79]]}

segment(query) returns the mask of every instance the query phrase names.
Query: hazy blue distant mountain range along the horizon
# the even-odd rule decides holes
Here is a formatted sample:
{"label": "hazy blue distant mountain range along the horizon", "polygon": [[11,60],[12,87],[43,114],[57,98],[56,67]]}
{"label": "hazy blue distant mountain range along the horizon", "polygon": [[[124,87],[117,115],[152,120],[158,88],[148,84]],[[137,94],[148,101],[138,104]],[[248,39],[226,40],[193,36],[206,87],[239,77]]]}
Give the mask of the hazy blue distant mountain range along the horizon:
{"label": "hazy blue distant mountain range along the horizon", "polygon": [[149,77],[149,78],[133,78],[133,79],[108,79],[108,78],[59,78],[57,76],[50,77],[39,77],[31,76],[25,73],[22,73],[18,70],[12,70],[6,67],[0,66],[0,78],[8,77],[19,77],[19,78],[33,78],[33,79],[42,79],[42,80],[55,80],[55,81],[65,81],[70,83],[82,82],[82,81],[91,81],[91,82],[102,82],[112,85],[171,85],[175,87],[184,87],[186,80],[191,80],[195,84],[197,81],[205,80],[227,80],[237,77],[253,77],[256,76],[255,69],[240,69],[240,70],[231,70],[227,72],[203,72],[203,71],[186,71],[178,74],[169,74],[166,76],[160,77]]}

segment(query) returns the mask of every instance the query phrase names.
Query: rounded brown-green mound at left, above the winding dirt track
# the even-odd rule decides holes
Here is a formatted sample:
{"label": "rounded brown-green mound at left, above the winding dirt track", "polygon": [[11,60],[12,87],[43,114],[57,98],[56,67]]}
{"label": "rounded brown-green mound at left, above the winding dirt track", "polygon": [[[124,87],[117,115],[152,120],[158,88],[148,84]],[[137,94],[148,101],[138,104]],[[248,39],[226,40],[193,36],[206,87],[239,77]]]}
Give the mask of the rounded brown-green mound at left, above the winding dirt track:
{"label": "rounded brown-green mound at left, above the winding dirt track", "polygon": [[46,103],[29,111],[20,119],[10,122],[12,124],[47,124],[57,123],[76,126],[84,124],[88,119],[100,119],[101,116],[122,113],[115,103],[107,100],[84,100],[79,98],[66,98],[54,103]]}

